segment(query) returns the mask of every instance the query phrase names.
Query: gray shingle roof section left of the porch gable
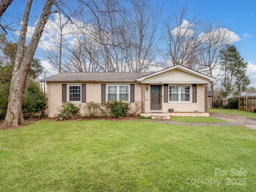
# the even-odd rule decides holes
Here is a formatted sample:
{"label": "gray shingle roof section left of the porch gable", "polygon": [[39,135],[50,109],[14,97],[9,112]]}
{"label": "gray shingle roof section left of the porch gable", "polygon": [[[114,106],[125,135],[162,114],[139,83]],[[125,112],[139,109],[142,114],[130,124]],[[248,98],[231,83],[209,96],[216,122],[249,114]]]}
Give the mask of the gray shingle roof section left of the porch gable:
{"label": "gray shingle roof section left of the porch gable", "polygon": [[62,72],[43,79],[41,82],[133,82],[136,78],[152,72]]}

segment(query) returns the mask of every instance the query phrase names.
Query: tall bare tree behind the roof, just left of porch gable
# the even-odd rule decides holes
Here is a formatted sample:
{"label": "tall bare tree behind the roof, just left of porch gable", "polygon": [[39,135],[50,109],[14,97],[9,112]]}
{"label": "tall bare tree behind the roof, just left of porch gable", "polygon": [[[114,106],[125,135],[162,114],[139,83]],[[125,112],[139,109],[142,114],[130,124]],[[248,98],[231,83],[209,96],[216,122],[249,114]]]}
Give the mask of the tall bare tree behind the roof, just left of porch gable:
{"label": "tall bare tree behind the roof, just left of porch gable", "polygon": [[122,38],[124,56],[130,72],[141,72],[154,65],[157,55],[156,30],[162,9],[147,0],[131,0],[132,11]]}

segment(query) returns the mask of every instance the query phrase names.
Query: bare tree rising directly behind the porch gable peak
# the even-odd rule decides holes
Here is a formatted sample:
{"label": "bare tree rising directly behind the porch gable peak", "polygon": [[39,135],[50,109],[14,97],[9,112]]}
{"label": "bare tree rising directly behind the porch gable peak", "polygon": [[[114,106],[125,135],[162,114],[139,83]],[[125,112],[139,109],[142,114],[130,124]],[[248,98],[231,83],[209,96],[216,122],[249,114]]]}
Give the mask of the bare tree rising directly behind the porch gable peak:
{"label": "bare tree rising directly behind the porch gable peak", "polygon": [[187,5],[181,10],[173,11],[173,15],[164,22],[164,39],[167,48],[164,51],[164,59],[167,66],[180,63],[191,69],[197,69],[197,52],[200,49],[202,39],[200,34],[200,21],[198,16],[193,16],[190,21],[188,17]]}

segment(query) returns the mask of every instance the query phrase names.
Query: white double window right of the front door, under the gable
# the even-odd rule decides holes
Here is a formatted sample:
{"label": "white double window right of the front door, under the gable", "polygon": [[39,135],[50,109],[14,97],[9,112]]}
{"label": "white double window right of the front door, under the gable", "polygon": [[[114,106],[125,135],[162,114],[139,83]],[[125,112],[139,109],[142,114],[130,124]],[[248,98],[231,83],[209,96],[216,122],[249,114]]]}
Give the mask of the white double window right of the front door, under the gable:
{"label": "white double window right of the front door, under the gable", "polygon": [[190,86],[170,86],[170,102],[190,102]]}

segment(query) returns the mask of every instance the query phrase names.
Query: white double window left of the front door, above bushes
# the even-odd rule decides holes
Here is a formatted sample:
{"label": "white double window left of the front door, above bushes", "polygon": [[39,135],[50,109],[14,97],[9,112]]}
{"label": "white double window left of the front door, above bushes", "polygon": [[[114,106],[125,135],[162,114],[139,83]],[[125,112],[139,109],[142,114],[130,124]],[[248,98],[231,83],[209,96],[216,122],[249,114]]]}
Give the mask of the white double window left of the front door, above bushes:
{"label": "white double window left of the front door, above bushes", "polygon": [[108,101],[129,101],[129,86],[128,85],[109,85],[108,86]]}

